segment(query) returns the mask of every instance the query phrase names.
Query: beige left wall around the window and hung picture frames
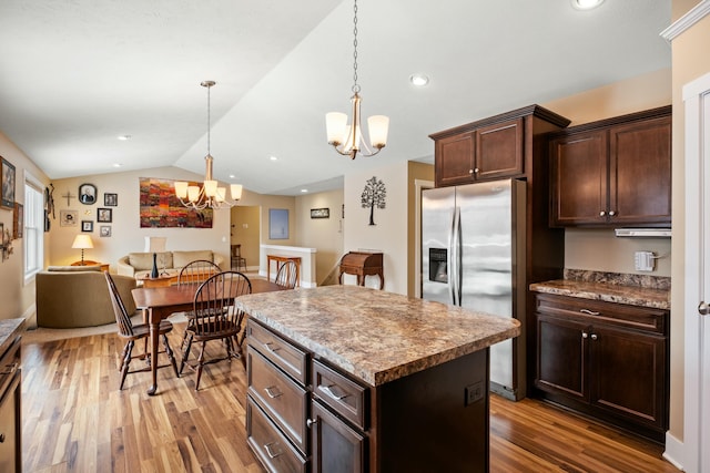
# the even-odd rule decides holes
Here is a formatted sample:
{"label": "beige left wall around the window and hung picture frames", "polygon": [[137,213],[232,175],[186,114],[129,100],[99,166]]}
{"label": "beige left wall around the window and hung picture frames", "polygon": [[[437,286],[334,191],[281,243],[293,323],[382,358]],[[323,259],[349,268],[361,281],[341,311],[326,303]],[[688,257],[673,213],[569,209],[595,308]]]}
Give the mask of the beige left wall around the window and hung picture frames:
{"label": "beige left wall around the window and hung picture frames", "polygon": [[[0,132],[0,156],[14,166],[14,198],[24,204],[24,176],[31,173],[45,186],[49,178],[28,156]],[[12,210],[0,208],[0,222],[12,232]],[[47,234],[45,240],[47,240]],[[0,319],[33,316],[34,279],[24,284],[24,238],[12,241],[13,254],[2,261],[0,257]]]}

